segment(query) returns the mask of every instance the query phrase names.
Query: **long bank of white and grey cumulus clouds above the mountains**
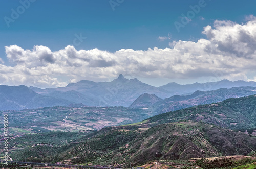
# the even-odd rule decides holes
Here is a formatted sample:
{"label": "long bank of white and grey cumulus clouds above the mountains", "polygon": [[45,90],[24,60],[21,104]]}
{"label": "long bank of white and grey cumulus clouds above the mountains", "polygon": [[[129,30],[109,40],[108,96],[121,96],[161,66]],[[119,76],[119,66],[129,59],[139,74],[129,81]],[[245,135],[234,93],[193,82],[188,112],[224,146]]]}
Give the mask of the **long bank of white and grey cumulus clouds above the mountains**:
{"label": "long bank of white and grey cumulus clouds above the mountains", "polygon": [[0,82],[58,87],[82,79],[108,80],[120,73],[143,78],[248,80],[246,74],[256,71],[256,19],[249,18],[244,24],[216,20],[213,26],[204,27],[202,33],[207,38],[173,41],[166,49],[121,49],[111,53],[76,50],[69,45],[53,52],[46,46],[36,45],[30,50],[5,46],[6,56],[15,66],[2,61]]}

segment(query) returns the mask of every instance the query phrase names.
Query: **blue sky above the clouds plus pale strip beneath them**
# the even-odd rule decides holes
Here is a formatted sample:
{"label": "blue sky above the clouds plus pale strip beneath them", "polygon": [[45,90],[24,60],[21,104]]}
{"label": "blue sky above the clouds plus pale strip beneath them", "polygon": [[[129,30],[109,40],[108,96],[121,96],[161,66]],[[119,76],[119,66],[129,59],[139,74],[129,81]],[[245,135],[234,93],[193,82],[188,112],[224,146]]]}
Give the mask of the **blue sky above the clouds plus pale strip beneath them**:
{"label": "blue sky above the clouds plus pale strip beneath them", "polygon": [[[27,4],[27,9],[23,8],[24,11],[20,12],[17,19],[13,19],[14,22],[8,23],[8,27],[5,18],[12,19],[12,9],[17,12],[17,8],[22,6],[21,2],[29,2],[30,4]],[[170,43],[173,41],[197,42],[201,38],[208,39],[206,34],[202,34],[202,31],[208,25],[213,26],[216,20],[232,21],[243,25],[248,21],[245,19],[247,16],[256,16],[255,1],[246,1],[246,4],[241,1],[209,0],[205,0],[205,2],[202,0],[113,0],[112,2],[119,2],[118,6],[114,7],[115,10],[111,7],[110,1],[98,0],[1,1],[0,57],[3,61],[2,65],[10,69],[17,66],[17,61],[8,59],[5,46],[17,45],[24,50],[32,50],[34,46],[41,45],[48,47],[52,52],[63,50],[68,45],[73,45],[77,51],[97,48],[100,51],[109,51],[110,53],[115,53],[121,49],[133,49],[135,51],[147,51],[148,48],[154,49],[154,47],[165,49],[172,48],[173,46]],[[200,12],[194,13],[195,16],[188,18],[189,22],[184,25],[184,28],[181,27],[177,31],[174,23],[181,23],[182,14],[186,16],[187,12],[191,11],[190,6],[194,7],[199,3],[203,3],[204,7],[200,8]],[[19,9],[22,10],[22,7]],[[76,35],[82,35],[86,39],[84,38],[79,45],[74,45]],[[153,75],[148,72],[140,76],[139,72],[131,73],[120,69],[115,69],[111,72],[112,74],[109,77],[102,75],[102,73],[95,73],[89,76],[90,71],[88,70],[85,76],[79,78],[74,77],[75,75],[60,73],[56,77],[51,77],[52,79],[57,78],[58,82],[45,82],[42,84],[30,83],[30,78],[25,81],[15,80],[14,82],[2,77],[2,82],[0,83],[8,85],[25,83],[40,87],[54,87],[81,79],[108,81],[115,78],[119,73],[123,73],[126,77],[137,77],[155,86],[173,81],[193,83],[210,79],[210,75],[202,75],[195,78],[193,76],[191,76],[192,78],[181,76],[179,78],[168,75],[157,77],[157,74]],[[244,74],[247,79],[253,78],[253,75],[248,72]],[[31,73],[31,75],[34,74]],[[47,76],[49,77],[49,75]],[[158,82],[156,82],[156,79]],[[38,81],[40,80],[38,79]]]}

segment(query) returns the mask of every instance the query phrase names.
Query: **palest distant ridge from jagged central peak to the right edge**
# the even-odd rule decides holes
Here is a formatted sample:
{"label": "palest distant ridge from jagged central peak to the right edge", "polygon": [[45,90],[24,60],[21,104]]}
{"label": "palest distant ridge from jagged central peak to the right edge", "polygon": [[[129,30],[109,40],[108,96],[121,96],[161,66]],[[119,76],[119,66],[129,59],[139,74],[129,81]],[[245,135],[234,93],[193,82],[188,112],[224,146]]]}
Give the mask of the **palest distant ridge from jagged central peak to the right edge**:
{"label": "palest distant ridge from jagged central peak to the right edge", "polygon": [[[220,88],[231,88],[241,86],[256,87],[256,82],[236,81],[231,82],[222,80],[219,82],[194,83],[188,85],[180,85],[177,83],[168,83],[160,87],[154,87],[139,81],[137,78],[126,79],[122,74],[111,82],[93,82],[81,80],[77,83],[70,83],[65,87],[55,89],[40,89],[30,87],[35,92],[47,96],[55,96],[76,103],[82,103],[88,106],[125,106],[131,105],[140,95],[144,93],[155,94],[158,98],[165,99],[173,95],[191,94],[197,90],[207,91]],[[57,92],[58,93],[57,93]],[[72,91],[71,98],[63,94],[63,92]],[[82,96],[78,96],[77,93]],[[75,96],[77,95],[77,96]]]}

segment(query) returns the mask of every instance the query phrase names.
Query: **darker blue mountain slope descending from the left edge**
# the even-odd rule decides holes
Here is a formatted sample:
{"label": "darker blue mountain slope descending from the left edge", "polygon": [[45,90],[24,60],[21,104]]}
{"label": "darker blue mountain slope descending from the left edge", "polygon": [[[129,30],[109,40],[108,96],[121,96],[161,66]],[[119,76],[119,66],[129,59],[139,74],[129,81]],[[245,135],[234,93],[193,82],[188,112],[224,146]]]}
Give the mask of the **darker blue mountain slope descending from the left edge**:
{"label": "darker blue mountain slope descending from the left edge", "polygon": [[73,102],[40,95],[24,85],[0,85],[0,110],[20,110],[46,106],[67,106]]}

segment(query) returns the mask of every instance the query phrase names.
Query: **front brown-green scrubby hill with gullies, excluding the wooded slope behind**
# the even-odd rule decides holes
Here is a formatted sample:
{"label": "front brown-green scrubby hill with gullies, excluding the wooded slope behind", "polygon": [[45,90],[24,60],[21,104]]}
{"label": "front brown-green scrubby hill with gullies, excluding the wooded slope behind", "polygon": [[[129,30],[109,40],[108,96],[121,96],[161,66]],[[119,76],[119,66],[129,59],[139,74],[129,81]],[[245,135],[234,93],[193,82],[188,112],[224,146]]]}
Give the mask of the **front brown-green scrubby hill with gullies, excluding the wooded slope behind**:
{"label": "front brown-green scrubby hill with gullies, excluding the wooded slope behind", "polygon": [[49,162],[47,156],[51,155],[52,159],[72,163],[126,168],[130,163],[138,166],[152,160],[247,155],[256,149],[255,137],[204,123],[177,122],[148,127],[148,124],[108,127],[65,147],[54,147],[51,153],[46,146],[36,146],[20,150],[12,157],[21,160],[34,152],[33,157],[39,162]]}

